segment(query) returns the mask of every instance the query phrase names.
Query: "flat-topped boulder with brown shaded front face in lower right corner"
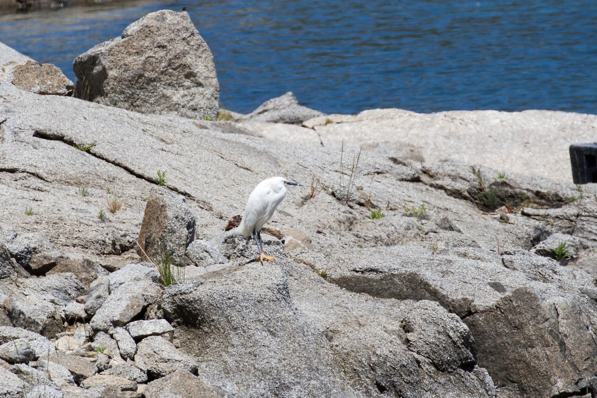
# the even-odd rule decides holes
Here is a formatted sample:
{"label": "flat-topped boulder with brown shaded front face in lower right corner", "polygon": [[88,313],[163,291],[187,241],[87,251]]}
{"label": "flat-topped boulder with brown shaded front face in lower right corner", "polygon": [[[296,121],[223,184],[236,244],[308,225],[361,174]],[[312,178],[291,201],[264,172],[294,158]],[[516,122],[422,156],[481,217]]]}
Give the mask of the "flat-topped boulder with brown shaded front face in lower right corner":
{"label": "flat-topped boulder with brown shaded front face in lower right corner", "polygon": [[399,301],[433,300],[461,317],[479,365],[520,396],[578,393],[592,380],[597,346],[582,343],[593,341],[597,327],[597,289],[588,274],[525,251],[498,255],[475,248],[435,254],[414,246],[361,249],[331,263],[336,266],[327,280],[344,289]]}

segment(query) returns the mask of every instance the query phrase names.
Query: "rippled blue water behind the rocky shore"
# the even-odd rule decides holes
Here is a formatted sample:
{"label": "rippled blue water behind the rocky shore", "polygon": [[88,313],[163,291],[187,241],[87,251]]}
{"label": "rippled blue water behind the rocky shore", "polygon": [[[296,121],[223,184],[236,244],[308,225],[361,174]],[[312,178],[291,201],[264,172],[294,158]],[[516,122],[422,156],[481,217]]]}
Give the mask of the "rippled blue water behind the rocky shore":
{"label": "rippled blue water behind the rocky shore", "polygon": [[220,101],[236,112],[293,91],[325,113],[597,113],[595,0],[125,2],[4,13],[0,41],[74,80],[77,55],[183,6],[214,54]]}

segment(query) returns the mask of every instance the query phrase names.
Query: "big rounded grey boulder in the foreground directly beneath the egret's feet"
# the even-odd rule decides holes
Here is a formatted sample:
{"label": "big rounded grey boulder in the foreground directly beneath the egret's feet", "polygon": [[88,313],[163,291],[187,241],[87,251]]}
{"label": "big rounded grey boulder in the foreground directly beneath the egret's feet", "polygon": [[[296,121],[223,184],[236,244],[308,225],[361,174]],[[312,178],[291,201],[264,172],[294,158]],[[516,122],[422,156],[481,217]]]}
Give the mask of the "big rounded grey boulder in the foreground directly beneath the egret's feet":
{"label": "big rounded grey boulder in the foreground directly beneath the egret's feet", "polygon": [[162,306],[187,326],[174,343],[202,363],[199,377],[235,396],[494,394],[454,314],[359,297],[286,260],[171,285]]}

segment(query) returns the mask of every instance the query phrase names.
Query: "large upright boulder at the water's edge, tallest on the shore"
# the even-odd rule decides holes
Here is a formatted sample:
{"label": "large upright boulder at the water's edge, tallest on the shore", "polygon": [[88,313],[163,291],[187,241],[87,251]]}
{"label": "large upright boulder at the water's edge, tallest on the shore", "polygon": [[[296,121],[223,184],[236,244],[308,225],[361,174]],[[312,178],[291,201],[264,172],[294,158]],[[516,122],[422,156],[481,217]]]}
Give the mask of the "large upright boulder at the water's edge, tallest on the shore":
{"label": "large upright boulder at the water's edge, tallest on the shore", "polygon": [[75,93],[141,113],[216,120],[220,87],[210,48],[186,12],[156,11],[73,64]]}

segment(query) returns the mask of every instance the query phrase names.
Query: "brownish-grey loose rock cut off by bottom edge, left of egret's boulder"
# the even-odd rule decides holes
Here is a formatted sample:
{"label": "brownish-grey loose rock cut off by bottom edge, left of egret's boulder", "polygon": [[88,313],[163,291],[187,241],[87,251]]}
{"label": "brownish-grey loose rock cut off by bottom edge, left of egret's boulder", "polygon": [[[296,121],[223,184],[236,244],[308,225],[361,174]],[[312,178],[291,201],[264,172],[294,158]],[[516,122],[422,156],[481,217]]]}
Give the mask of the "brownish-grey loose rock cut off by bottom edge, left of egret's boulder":
{"label": "brownish-grey loose rock cut off by bottom edge, left of egret's boulder", "polygon": [[147,384],[143,390],[146,398],[162,398],[176,396],[180,398],[195,398],[197,396],[216,398],[222,395],[216,393],[200,378],[185,370],[177,370],[165,377]]}

